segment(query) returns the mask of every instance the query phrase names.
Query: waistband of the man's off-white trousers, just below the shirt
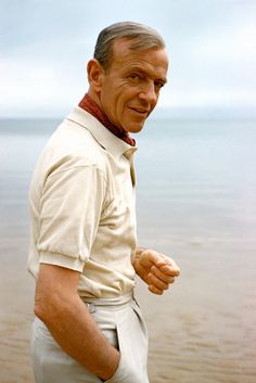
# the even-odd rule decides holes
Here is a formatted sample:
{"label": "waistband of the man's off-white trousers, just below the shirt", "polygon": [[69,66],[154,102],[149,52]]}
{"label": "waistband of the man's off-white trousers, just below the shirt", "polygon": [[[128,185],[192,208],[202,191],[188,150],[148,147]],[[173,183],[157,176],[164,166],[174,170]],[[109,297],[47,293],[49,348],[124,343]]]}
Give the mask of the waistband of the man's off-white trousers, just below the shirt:
{"label": "waistband of the man's off-white trousers, just below the shirt", "polygon": [[88,308],[91,309],[95,306],[99,308],[106,309],[119,309],[128,306],[133,301],[133,293],[116,296],[114,298],[92,298],[87,296],[80,296],[81,301],[85,302]]}

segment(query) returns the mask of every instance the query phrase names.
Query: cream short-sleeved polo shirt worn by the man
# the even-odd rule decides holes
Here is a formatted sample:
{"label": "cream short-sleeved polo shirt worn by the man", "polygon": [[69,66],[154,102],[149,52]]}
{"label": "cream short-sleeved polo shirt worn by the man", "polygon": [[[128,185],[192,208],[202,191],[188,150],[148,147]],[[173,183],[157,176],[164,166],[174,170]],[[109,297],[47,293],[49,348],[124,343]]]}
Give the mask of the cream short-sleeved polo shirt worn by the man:
{"label": "cream short-sleeved polo shirt worn by the man", "polygon": [[60,125],[29,193],[35,278],[42,263],[80,271],[80,296],[115,297],[135,288],[136,150],[80,107]]}

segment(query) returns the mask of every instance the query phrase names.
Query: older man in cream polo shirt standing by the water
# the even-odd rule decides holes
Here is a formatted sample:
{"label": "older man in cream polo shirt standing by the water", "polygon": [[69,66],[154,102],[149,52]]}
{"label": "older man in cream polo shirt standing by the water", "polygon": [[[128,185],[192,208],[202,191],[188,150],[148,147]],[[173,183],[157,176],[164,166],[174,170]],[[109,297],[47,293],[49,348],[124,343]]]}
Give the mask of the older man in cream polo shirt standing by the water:
{"label": "older man in cream polo shirt standing by the water", "polygon": [[88,63],[89,90],[37,164],[28,258],[37,281],[37,383],[149,382],[135,275],[162,294],[179,268],[138,247],[129,133],[155,107],[167,68],[154,29],[138,23],[103,29]]}

